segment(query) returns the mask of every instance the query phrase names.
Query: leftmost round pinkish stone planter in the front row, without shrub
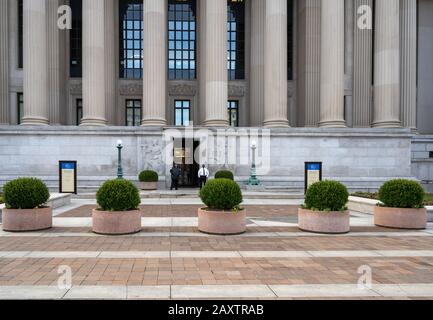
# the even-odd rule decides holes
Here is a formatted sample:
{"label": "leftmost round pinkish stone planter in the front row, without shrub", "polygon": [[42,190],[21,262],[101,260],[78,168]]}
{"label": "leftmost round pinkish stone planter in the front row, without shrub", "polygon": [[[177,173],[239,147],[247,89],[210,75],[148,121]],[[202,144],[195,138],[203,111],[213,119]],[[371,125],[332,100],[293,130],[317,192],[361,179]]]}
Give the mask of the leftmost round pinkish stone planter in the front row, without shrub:
{"label": "leftmost round pinkish stone planter in the front row, without shrub", "polygon": [[3,230],[13,232],[38,231],[53,226],[53,210],[3,209]]}

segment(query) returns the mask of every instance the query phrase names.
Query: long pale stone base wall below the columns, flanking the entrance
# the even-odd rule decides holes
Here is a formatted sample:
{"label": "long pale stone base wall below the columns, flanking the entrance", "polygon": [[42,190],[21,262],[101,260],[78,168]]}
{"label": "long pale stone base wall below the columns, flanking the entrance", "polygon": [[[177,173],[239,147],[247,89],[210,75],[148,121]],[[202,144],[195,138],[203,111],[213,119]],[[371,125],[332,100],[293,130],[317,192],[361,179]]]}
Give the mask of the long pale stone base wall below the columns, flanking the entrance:
{"label": "long pale stone base wall below the columns, flanking the entrance", "polygon": [[[79,190],[94,189],[116,177],[115,146],[121,139],[125,178],[137,181],[141,170],[153,169],[164,189],[170,183],[173,153],[165,135],[176,130],[0,126],[0,186],[16,177],[37,176],[51,190],[58,190],[58,162],[76,160]],[[195,128],[181,135],[199,139],[204,130]],[[304,163],[308,161],[323,162],[323,178],[339,180],[351,191],[374,191],[389,179],[413,178],[412,134],[407,129],[239,128],[224,131],[219,138],[212,142],[213,153],[199,162],[208,164],[211,174],[223,167],[234,171],[241,184],[250,174],[252,140],[258,142],[258,175],[267,187],[302,190]],[[221,155],[227,159],[222,164],[215,161]],[[246,161],[242,160],[245,156]]]}

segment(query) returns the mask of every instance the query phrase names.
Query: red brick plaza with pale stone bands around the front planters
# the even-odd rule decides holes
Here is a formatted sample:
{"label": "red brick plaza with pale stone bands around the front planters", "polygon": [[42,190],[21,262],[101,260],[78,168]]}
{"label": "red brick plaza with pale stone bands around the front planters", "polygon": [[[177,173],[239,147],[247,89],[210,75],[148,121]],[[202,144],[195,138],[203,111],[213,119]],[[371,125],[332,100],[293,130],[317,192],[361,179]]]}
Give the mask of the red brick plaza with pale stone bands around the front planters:
{"label": "red brick plaza with pale stone bands around the front planters", "polygon": [[[352,213],[350,234],[318,235],[298,230],[296,201],[247,201],[246,234],[211,236],[189,202],[144,201],[132,236],[92,233],[92,200],[55,210],[48,231],[0,232],[0,299],[433,298],[431,224],[384,229]],[[72,288],[58,287],[63,266]],[[365,267],[372,286],[360,288]]]}

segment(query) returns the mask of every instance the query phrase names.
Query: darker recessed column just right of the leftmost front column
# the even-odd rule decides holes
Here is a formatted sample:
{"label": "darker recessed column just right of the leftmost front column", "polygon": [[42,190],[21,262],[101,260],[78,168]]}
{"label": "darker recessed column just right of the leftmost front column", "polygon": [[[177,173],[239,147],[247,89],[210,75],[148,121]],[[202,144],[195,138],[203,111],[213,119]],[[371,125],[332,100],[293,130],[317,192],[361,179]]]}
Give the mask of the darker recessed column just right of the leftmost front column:
{"label": "darker recessed column just right of the leftmost front column", "polygon": [[47,0],[48,115],[53,125],[66,120],[66,31],[57,26],[63,4],[65,0]]}

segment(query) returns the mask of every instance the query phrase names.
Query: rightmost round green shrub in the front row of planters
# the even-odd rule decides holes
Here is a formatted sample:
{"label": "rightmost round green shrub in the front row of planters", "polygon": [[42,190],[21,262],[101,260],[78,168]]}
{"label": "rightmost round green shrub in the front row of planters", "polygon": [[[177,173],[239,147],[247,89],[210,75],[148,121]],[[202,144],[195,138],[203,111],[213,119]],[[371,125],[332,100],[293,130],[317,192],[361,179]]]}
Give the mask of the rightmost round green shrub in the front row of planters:
{"label": "rightmost round green shrub in the front row of planters", "polygon": [[396,179],[386,182],[379,190],[379,200],[390,208],[422,208],[424,189],[412,180]]}

